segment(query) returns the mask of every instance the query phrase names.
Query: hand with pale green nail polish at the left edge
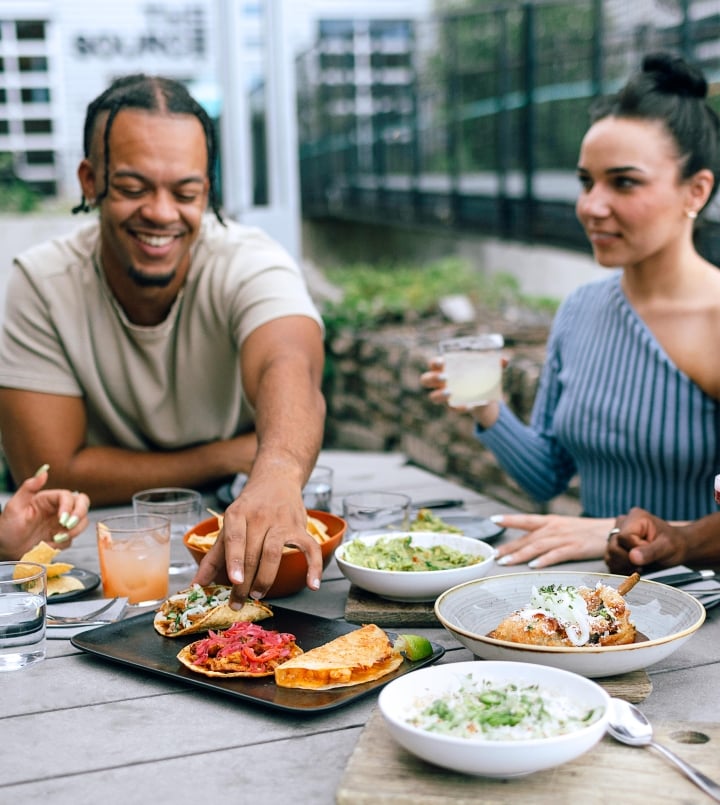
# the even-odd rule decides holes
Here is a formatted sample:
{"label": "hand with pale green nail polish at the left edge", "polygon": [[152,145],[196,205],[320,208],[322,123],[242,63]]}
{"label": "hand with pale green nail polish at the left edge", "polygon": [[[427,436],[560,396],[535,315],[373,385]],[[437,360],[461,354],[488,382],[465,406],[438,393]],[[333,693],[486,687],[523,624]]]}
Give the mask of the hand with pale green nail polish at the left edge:
{"label": "hand with pale green nail polish at the left edge", "polygon": [[67,548],[88,525],[90,500],[81,492],[43,489],[47,464],[25,480],[0,514],[0,560],[19,559],[39,542]]}

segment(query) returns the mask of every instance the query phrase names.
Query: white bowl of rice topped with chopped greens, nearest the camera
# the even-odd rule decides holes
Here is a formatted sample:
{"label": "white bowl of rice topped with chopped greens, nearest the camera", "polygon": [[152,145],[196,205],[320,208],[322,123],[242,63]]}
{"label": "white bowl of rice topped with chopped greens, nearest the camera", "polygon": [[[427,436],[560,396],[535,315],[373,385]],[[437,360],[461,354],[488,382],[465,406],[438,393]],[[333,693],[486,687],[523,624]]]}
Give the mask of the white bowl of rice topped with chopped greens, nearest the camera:
{"label": "white bowl of rice topped with chopped greens, nearest the camera", "polygon": [[558,668],[459,662],[393,680],[378,703],[408,752],[452,771],[503,778],[590,751],[607,729],[610,696]]}

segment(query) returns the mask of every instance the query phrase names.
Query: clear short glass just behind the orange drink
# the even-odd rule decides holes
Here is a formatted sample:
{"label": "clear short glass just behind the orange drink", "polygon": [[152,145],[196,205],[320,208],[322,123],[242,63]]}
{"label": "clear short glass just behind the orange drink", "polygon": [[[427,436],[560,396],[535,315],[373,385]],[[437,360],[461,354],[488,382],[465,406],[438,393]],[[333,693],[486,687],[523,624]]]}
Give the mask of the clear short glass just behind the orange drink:
{"label": "clear short glass just behind the orange drink", "polygon": [[[197,570],[182,538],[203,519],[203,498],[200,492],[179,486],[144,489],[133,495],[133,511],[135,514],[159,514],[170,520],[171,576],[194,573]],[[181,556],[182,559],[174,558],[175,556]]]}

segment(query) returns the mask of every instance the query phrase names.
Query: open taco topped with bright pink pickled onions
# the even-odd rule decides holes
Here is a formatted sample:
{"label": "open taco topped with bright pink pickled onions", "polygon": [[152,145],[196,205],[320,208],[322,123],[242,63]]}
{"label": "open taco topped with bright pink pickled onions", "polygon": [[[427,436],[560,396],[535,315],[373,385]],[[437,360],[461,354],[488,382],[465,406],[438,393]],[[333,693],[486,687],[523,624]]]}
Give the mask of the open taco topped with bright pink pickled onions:
{"label": "open taco topped with bright pink pickled onions", "polygon": [[256,623],[234,623],[224,632],[211,631],[185,646],[178,660],[191,671],[214,677],[272,676],[281,663],[302,654],[295,635],[263,629]]}

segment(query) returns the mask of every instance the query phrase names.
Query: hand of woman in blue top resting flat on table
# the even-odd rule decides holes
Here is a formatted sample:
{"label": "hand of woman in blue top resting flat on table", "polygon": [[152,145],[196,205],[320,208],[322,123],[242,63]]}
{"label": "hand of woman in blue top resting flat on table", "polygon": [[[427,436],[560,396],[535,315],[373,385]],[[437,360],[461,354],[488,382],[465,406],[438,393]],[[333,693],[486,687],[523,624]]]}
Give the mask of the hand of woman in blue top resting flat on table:
{"label": "hand of woman in blue top resting flat on table", "polygon": [[503,514],[492,518],[505,528],[527,532],[498,546],[501,565],[527,563],[543,568],[559,562],[600,559],[614,518],[568,517],[559,514]]}

